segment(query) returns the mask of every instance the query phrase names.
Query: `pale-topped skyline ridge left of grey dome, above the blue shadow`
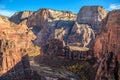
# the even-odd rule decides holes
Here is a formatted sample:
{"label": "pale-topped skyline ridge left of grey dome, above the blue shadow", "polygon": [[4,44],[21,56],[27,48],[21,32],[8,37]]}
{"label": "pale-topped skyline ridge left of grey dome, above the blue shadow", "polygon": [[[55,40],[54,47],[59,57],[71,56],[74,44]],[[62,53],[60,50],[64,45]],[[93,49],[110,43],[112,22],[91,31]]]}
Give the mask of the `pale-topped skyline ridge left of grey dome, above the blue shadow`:
{"label": "pale-topped skyline ridge left of grey dome, above the blue shadow", "polygon": [[53,22],[57,20],[75,20],[76,15],[72,12],[67,11],[57,11],[51,9],[40,9],[36,11],[29,19],[28,26],[29,27],[44,27],[46,22]]}

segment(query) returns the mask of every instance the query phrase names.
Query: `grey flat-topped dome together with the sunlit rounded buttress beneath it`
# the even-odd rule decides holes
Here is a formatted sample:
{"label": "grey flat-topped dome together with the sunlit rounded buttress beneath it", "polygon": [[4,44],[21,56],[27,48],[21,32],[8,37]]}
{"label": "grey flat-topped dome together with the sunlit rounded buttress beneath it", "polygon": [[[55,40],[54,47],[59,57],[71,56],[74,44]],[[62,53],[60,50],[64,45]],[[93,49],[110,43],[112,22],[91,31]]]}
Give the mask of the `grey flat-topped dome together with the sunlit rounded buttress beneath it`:
{"label": "grey flat-topped dome together with the sunlit rounded buttress beneath it", "polygon": [[68,44],[90,48],[106,15],[107,12],[101,6],[82,7],[69,35]]}

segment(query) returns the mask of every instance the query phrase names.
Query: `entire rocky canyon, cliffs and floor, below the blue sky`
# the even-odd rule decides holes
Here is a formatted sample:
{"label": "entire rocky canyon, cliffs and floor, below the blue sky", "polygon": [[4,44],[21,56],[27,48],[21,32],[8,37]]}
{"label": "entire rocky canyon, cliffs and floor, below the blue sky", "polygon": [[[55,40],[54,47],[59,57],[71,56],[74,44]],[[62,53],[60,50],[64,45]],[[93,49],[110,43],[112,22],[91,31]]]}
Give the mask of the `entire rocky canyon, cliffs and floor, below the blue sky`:
{"label": "entire rocky canyon, cliffs and floor, below the blue sky", "polygon": [[[0,16],[0,80],[119,80],[119,34],[120,10],[107,13],[102,6],[84,6],[78,14],[42,8]],[[90,74],[78,78],[57,69],[67,61],[86,63]]]}

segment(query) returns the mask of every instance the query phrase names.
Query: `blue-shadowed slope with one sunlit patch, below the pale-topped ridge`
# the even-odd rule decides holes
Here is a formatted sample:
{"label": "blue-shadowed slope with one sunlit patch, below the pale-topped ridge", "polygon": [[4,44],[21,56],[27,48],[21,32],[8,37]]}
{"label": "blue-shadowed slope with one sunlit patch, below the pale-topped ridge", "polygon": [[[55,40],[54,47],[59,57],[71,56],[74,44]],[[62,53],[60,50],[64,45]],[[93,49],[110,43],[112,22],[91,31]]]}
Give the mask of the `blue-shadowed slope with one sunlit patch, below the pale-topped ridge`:
{"label": "blue-shadowed slope with one sunlit patch, below the pale-topped ridge", "polygon": [[42,29],[38,35],[35,44],[39,46],[45,45],[46,42],[52,39],[62,40],[64,43],[67,43],[68,36],[70,34],[71,28],[74,24],[74,21],[56,21],[48,23],[48,27]]}

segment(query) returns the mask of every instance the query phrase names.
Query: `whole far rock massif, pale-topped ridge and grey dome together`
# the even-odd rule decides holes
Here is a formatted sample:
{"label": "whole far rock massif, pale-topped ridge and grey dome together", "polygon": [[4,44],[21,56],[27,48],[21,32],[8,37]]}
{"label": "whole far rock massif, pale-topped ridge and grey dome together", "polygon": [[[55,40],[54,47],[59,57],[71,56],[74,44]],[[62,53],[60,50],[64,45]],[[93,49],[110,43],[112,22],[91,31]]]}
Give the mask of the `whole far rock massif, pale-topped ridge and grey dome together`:
{"label": "whole far rock massif, pale-topped ridge and grey dome together", "polygon": [[34,41],[36,45],[43,46],[51,39],[59,39],[67,45],[89,48],[95,39],[95,31],[98,31],[106,14],[99,6],[83,7],[77,19],[71,12],[41,9],[28,18],[27,25],[33,27],[33,32],[37,35]]}

